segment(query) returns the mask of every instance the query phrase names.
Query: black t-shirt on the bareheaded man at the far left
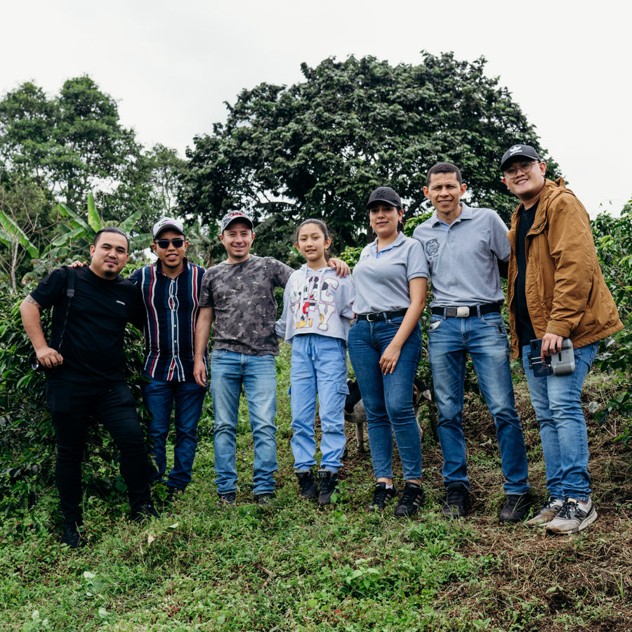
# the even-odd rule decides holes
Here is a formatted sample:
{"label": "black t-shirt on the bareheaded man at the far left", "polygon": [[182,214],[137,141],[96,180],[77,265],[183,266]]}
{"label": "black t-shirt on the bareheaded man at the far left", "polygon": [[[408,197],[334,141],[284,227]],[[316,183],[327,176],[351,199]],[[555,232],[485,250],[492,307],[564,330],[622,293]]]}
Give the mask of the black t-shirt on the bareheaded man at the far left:
{"label": "black t-shirt on the bareheaded man at the far left", "polygon": [[[64,358],[58,369],[48,371],[53,380],[79,383],[124,380],[124,333],[128,322],[139,322],[143,315],[140,289],[127,279],[108,280],[90,268],[75,268],[74,296],[67,310],[68,272],[53,270],[31,292],[43,308],[53,307],[51,347]],[[68,317],[60,335],[64,317]]]}

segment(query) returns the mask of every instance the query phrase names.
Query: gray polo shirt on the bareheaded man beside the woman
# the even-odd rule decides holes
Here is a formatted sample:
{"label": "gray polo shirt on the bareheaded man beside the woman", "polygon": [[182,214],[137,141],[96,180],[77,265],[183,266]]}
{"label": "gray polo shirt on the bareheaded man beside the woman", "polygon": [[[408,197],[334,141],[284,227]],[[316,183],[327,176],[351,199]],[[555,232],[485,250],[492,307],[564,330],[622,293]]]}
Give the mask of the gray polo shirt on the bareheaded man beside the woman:
{"label": "gray polo shirt on the bareheaded man beside the woman", "polygon": [[461,204],[461,215],[449,227],[435,211],[413,233],[430,270],[431,308],[504,300],[496,258],[509,259],[507,227],[496,211]]}

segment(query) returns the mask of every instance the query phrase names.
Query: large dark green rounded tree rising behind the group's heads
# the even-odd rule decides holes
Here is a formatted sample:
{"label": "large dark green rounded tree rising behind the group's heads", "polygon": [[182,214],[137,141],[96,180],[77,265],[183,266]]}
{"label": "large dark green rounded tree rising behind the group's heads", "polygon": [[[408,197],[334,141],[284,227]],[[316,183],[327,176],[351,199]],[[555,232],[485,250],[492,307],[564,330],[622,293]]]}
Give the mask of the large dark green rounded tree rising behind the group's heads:
{"label": "large dark green rounded tree rising behind the group's heads", "polygon": [[[422,55],[420,65],[353,56],[315,68],[303,63],[301,83],[242,91],[226,104],[225,124],[196,136],[187,150],[181,211],[211,222],[247,209],[276,226],[277,243],[279,230],[317,216],[328,221],[338,248],[360,245],[369,192],[393,186],[407,213],[418,213],[428,208],[426,171],[445,160],[461,167],[474,204],[507,218],[513,202],[499,161],[513,143],[542,150],[533,126],[499,79],[485,75],[484,58]],[[260,237],[258,251],[275,249]]]}

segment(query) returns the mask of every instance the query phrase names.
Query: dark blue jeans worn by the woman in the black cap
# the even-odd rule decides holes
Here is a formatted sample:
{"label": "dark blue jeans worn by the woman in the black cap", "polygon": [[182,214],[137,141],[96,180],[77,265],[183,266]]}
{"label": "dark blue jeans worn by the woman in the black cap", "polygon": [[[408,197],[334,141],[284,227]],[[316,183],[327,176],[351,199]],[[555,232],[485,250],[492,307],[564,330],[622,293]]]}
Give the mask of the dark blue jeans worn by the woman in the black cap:
{"label": "dark blue jeans worn by the woman in the black cap", "polygon": [[393,435],[404,479],[421,478],[421,437],[412,407],[413,383],[421,360],[421,328],[402,345],[395,371],[383,375],[380,357],[393,340],[403,317],[380,322],[357,321],[349,331],[349,357],[364,409],[376,478],[393,478]]}

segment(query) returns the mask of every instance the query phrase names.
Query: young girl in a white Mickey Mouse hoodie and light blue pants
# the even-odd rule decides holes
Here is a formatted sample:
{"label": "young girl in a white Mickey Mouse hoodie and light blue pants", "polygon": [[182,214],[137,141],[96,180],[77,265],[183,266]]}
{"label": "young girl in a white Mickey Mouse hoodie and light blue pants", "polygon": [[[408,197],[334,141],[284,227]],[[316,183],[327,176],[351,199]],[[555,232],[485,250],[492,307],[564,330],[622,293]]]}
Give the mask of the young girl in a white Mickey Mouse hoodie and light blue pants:
{"label": "young girl in a white Mickey Mouse hoodie and light blue pants", "polygon": [[[336,277],[327,265],[331,239],[320,220],[305,220],[296,233],[296,248],[307,263],[296,270],[285,287],[283,314],[277,335],[292,345],[290,401],[294,470],[301,498],[317,496],[319,505],[331,502],[345,449],[344,407],[347,388],[347,334],[355,289],[350,275]],[[314,423],[316,395],[320,404],[322,461],[320,485],[316,464]]]}

